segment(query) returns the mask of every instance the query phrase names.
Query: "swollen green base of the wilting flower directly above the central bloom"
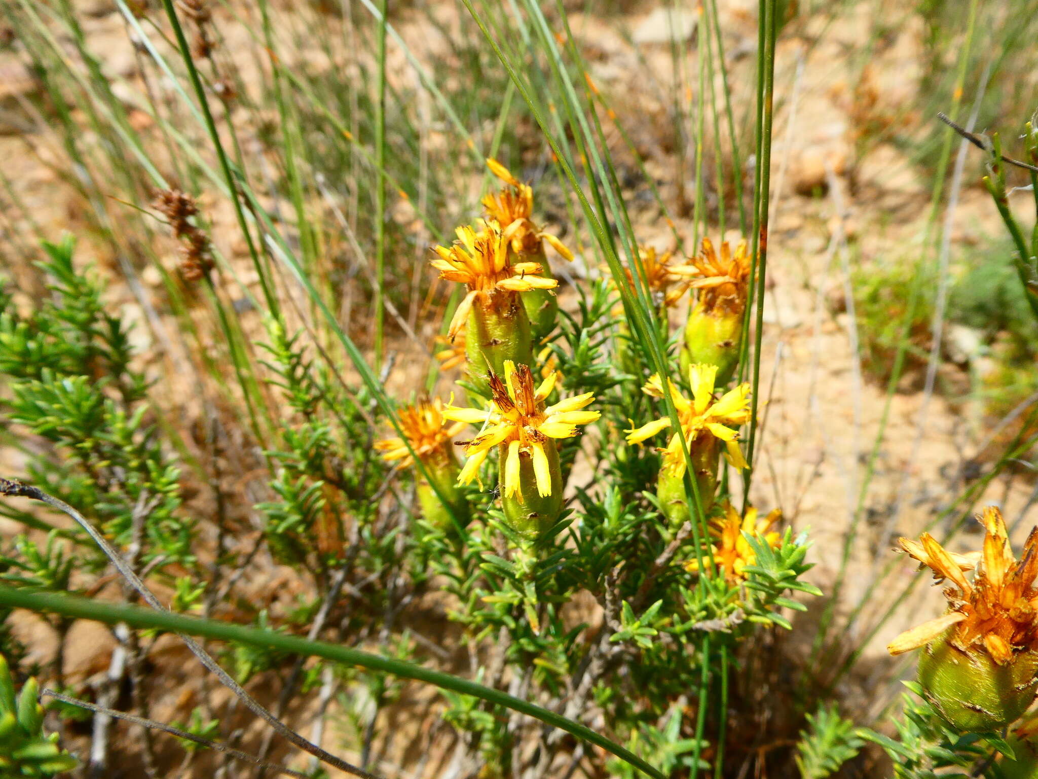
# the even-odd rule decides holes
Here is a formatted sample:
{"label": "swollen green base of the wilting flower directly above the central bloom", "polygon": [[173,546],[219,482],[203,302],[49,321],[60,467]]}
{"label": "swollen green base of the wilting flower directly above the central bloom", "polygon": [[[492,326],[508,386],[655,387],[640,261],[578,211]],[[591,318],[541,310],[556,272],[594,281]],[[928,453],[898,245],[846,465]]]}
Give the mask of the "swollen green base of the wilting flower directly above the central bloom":
{"label": "swollen green base of the wilting flower directly above the central bloom", "polygon": [[[529,295],[529,292],[522,293]],[[498,291],[488,303],[480,301],[468,315],[465,355],[472,384],[489,397],[489,375],[504,375],[506,360],[534,365],[534,340],[529,318],[517,292]]]}

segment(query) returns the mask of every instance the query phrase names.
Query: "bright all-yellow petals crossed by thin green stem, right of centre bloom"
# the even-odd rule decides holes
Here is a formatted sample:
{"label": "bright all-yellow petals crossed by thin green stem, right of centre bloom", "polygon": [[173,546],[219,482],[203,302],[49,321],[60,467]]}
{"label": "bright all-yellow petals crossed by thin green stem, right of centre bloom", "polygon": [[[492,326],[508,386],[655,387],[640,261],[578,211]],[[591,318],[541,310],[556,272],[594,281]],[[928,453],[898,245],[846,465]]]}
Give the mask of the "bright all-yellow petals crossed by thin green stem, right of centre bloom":
{"label": "bright all-yellow petals crossed by thin green stem, right of centre bloom", "polygon": [[[688,369],[692,399],[685,398],[674,382],[667,381],[671,399],[678,411],[678,421],[689,448],[696,441],[717,438],[725,441],[729,462],[737,468],[745,468],[746,460],[739,449],[739,433],[734,429],[749,422],[749,384],[743,382],[727,392],[719,400],[714,400],[714,379],[717,366],[696,364]],[[658,375],[641,388],[647,395],[663,397],[663,384]],[[654,420],[639,428],[626,430],[628,444],[640,444],[661,430],[671,427],[671,418]],[[685,472],[685,458],[681,452],[681,439],[675,433],[663,452],[663,466],[674,474]]]}

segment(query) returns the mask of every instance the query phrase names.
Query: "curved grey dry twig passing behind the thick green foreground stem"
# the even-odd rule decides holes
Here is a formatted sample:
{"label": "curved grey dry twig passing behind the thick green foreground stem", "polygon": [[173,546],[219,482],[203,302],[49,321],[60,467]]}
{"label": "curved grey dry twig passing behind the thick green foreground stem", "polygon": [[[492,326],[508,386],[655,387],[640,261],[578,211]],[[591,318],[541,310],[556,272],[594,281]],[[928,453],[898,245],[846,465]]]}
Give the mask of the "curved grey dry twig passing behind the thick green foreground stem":
{"label": "curved grey dry twig passing behind the thick green foreground stem", "polygon": [[[8,479],[0,479],[0,494],[12,498],[31,498],[32,500],[46,503],[48,506],[51,506],[52,508],[71,516],[84,531],[86,531],[87,535],[93,539],[93,542],[101,547],[102,552],[105,553],[112,565],[115,566],[116,570],[118,570],[124,579],[126,579],[133,586],[133,588],[140,593],[141,597],[144,598],[144,601],[148,606],[159,612],[168,611],[162,606],[162,603],[159,602],[159,599],[152,593],[152,591],[147,589],[140,577],[127,566],[126,561],[122,560],[118,552],[116,552],[111,544],[105,540],[105,537],[102,536],[101,533],[86,520],[86,517],[80,514],[79,511],[74,509],[72,506],[63,501],[59,501],[57,498],[47,494],[38,487],[33,487],[31,485]],[[320,747],[310,744],[303,736],[299,735],[299,733],[296,733],[285,727],[285,725],[282,724],[276,717],[264,708],[255,699],[252,698],[252,696],[245,692],[242,686],[235,681],[227,674],[227,672],[224,671],[215,660],[213,660],[212,655],[210,655],[210,653],[207,652],[200,644],[198,644],[198,642],[190,636],[181,635],[181,639],[185,644],[187,644],[188,648],[194,652],[195,656],[201,661],[201,664],[216,674],[220,681],[223,682],[223,684],[228,688],[237,696],[237,698],[243,702],[250,711],[252,711],[252,714],[266,721],[268,725],[274,728],[279,735],[288,740],[291,744],[313,755],[315,757],[320,758],[329,765],[334,765],[339,771],[345,771],[353,776],[366,777],[367,779],[378,779],[375,774],[362,771],[356,765],[352,765],[346,760],[339,759],[338,757],[335,757],[335,755],[325,752]]]}

